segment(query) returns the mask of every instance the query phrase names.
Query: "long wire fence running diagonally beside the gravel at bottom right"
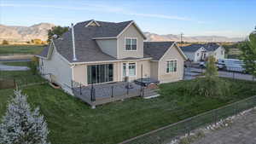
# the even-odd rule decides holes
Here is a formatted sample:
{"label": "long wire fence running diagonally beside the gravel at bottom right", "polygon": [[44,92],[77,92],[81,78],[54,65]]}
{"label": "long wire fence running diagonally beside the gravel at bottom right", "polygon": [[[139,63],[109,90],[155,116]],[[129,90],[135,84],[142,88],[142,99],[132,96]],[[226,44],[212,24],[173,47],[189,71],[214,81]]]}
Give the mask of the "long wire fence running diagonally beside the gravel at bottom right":
{"label": "long wire fence running diagonally beside the gravel at bottom right", "polygon": [[175,124],[167,125],[158,130],[138,135],[119,144],[166,144],[180,135],[190,134],[192,130],[217,123],[220,119],[228,118],[255,106],[256,96],[253,96],[209,112],[204,112],[195,117],[184,119]]}

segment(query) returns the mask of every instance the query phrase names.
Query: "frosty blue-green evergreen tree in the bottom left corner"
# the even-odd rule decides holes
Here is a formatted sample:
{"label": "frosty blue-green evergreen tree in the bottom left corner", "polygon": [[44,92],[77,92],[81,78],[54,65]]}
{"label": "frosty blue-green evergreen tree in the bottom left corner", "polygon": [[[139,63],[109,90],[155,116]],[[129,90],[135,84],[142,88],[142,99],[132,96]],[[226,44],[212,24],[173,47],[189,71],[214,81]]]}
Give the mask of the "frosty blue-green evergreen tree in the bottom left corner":
{"label": "frosty blue-green evergreen tree in the bottom left corner", "polygon": [[49,144],[44,117],[39,114],[39,108],[32,111],[26,97],[15,90],[0,124],[0,144]]}

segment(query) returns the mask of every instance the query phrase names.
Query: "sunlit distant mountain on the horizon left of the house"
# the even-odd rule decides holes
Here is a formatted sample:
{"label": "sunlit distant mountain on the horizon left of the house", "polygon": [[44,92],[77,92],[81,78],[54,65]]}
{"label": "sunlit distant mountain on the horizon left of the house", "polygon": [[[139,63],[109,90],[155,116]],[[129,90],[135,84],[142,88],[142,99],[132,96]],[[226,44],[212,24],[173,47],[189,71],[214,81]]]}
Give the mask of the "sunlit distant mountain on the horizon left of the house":
{"label": "sunlit distant mountain on the horizon left of the house", "polygon": [[0,25],[0,42],[3,39],[11,42],[26,42],[32,39],[47,40],[47,31],[54,24],[39,23],[33,26],[4,26]]}

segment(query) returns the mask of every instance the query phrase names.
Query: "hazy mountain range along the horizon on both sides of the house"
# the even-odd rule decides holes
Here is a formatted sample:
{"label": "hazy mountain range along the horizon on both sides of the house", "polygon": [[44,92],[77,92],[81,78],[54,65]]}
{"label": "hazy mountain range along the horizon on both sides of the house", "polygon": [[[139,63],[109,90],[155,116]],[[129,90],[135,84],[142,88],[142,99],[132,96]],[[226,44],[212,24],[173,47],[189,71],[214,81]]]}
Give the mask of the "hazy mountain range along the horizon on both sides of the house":
{"label": "hazy mountain range along the horizon on both sides of the house", "polygon": [[[10,42],[27,42],[32,39],[47,40],[47,31],[54,24],[39,23],[33,26],[4,26],[0,24],[0,41],[3,39]],[[151,32],[144,32],[147,41],[180,41],[180,35],[166,34],[159,35]],[[183,37],[185,42],[238,42],[241,37],[221,37],[221,36],[195,36]]]}

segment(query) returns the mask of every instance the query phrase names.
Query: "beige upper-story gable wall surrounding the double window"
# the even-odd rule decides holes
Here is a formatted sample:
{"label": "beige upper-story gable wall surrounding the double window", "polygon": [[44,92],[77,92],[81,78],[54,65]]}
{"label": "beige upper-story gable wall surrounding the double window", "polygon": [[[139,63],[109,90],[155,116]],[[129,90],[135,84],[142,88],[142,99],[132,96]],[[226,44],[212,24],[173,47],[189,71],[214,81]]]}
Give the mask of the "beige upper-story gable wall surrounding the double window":
{"label": "beige upper-story gable wall surrounding the double window", "polygon": [[[126,51],[125,50],[125,37],[137,38],[137,50]],[[133,24],[129,26],[125,32],[123,32],[118,38],[118,59],[124,59],[127,57],[143,58],[143,36],[138,32],[136,26]]]}

